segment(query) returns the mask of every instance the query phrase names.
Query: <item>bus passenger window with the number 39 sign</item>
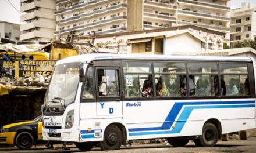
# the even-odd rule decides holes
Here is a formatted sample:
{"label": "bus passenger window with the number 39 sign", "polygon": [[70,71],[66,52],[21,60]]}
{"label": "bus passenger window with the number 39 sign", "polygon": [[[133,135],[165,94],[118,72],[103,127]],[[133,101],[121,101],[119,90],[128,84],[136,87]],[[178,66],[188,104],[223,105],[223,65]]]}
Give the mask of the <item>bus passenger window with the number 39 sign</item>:
{"label": "bus passenger window with the number 39 sign", "polygon": [[123,61],[125,97],[153,97],[150,61]]}

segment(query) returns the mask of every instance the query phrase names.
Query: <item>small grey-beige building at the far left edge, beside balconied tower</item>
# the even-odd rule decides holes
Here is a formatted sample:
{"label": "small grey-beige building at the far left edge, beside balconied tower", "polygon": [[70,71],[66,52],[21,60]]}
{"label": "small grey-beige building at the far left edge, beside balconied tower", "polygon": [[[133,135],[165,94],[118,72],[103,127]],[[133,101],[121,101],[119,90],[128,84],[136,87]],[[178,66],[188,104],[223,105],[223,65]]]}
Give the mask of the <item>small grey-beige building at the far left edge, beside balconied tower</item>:
{"label": "small grey-beige building at the far left edge, beside balconied tower", "polygon": [[20,24],[0,21],[0,38],[18,42],[20,40]]}

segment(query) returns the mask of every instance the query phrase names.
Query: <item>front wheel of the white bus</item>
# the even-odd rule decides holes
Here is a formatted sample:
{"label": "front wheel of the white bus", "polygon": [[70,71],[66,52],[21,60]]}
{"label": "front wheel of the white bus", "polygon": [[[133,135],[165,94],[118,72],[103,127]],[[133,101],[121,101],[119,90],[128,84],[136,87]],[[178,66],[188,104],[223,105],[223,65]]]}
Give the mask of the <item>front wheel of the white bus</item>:
{"label": "front wheel of the white bus", "polygon": [[123,135],[121,130],[115,125],[109,125],[105,132],[103,141],[99,142],[102,150],[118,150],[121,147]]}

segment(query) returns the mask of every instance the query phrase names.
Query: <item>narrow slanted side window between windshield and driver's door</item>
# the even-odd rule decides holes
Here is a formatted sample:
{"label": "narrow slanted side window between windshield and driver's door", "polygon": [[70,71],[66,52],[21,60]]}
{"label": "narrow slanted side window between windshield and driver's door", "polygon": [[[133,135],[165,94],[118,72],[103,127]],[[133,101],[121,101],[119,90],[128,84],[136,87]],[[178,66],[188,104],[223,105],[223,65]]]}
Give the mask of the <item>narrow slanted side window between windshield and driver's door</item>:
{"label": "narrow slanted side window between windshield and driver's door", "polygon": [[93,68],[87,70],[86,81],[84,82],[83,99],[93,99]]}

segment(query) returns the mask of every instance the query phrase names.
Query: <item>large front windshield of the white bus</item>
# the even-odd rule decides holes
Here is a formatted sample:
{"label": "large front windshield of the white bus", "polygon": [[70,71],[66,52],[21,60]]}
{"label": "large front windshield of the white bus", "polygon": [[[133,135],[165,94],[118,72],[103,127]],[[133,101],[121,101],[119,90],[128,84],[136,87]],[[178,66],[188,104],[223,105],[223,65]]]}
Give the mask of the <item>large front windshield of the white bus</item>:
{"label": "large front windshield of the white bus", "polygon": [[45,106],[66,107],[73,103],[79,82],[79,64],[67,63],[56,65],[44,101]]}

